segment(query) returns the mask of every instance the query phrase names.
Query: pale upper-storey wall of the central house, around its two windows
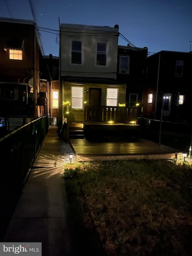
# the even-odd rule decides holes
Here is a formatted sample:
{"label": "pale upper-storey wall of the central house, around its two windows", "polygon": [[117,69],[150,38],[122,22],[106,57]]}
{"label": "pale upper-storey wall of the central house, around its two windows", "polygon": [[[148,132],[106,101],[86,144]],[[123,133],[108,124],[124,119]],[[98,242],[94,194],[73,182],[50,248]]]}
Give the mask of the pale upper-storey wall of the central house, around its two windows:
{"label": "pale upper-storey wall of the central house, around its two windows", "polygon": [[[60,29],[61,76],[116,79],[118,28],[61,24]],[[70,64],[71,40],[82,40],[82,65]],[[97,42],[107,43],[106,66],[96,65]]]}

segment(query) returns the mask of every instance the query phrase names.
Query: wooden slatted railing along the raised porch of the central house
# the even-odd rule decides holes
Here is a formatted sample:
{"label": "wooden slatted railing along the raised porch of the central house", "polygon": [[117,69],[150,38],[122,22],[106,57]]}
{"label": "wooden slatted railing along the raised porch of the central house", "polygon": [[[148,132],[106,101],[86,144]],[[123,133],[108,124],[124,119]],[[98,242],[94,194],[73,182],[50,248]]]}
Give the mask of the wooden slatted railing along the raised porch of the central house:
{"label": "wooden slatted railing along the raised porch of the central house", "polygon": [[137,107],[114,107],[114,106],[92,106],[85,105],[84,123],[101,122],[106,123],[129,123],[137,120]]}

